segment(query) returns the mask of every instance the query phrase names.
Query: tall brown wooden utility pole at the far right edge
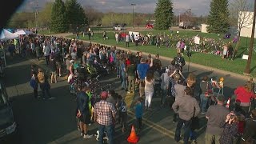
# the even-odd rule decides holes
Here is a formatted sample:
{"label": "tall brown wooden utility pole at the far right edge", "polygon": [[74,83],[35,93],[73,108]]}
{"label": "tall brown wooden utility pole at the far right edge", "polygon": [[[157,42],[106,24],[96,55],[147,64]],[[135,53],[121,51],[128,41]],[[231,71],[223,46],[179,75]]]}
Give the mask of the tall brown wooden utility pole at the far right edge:
{"label": "tall brown wooden utility pole at the far right edge", "polygon": [[243,73],[245,75],[250,75],[250,63],[251,63],[251,57],[252,57],[253,48],[254,48],[254,31],[255,31],[255,16],[256,16],[255,13],[256,13],[256,0],[254,0],[254,20],[253,20],[253,27],[251,30],[249,55],[248,55],[248,60],[246,64],[246,70]]}

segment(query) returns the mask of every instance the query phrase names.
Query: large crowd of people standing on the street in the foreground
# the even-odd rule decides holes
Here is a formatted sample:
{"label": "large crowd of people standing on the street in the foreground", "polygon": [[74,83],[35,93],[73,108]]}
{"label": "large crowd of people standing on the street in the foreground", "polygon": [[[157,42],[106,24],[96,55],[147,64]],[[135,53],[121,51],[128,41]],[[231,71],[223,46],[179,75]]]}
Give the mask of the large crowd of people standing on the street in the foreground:
{"label": "large crowd of people standing on the street in the foreground", "polygon": [[[160,38],[162,39],[162,38]],[[135,39],[136,41],[136,39]],[[177,44],[178,49],[182,41]],[[2,44],[5,46],[5,44]],[[179,46],[178,46],[179,45]],[[9,46],[10,47],[10,46]],[[48,75],[45,70],[31,66],[30,86],[34,90],[34,97],[38,98],[38,85],[42,89],[42,97],[53,99],[50,95],[50,85],[58,82],[58,77],[75,79],[82,78],[77,90],[78,130],[83,138],[91,138],[90,124],[98,123],[98,141],[106,139],[114,143],[114,127],[120,123],[122,131],[127,130],[127,108],[124,96],[114,90],[101,91],[100,98],[93,102],[94,94],[90,82],[83,79],[102,74],[115,74],[120,79],[122,90],[128,94],[138,94],[134,107],[138,131],[142,130],[143,111],[154,109],[152,99],[160,97],[162,108],[174,110],[173,122],[177,122],[175,131],[176,142],[181,139],[181,130],[184,128],[184,143],[189,140],[196,142],[195,125],[198,125],[199,114],[207,119],[206,144],[215,143],[248,143],[255,142],[256,137],[256,110],[254,102],[254,83],[246,82],[245,86],[238,86],[234,91],[236,102],[234,109],[225,107],[227,98],[218,94],[216,102],[214,95],[206,94],[212,87],[207,76],[198,82],[196,75],[190,73],[187,78],[182,74],[182,66],[186,64],[182,58],[182,50],[170,62],[169,66],[162,66],[159,54],[154,57],[143,56],[141,51],[133,54],[130,50],[118,50],[115,46],[86,44],[76,39],[48,37],[44,35],[30,35],[20,38],[21,55],[44,59],[50,68]],[[14,53],[12,47],[9,52]],[[97,69],[97,66],[106,69]],[[85,69],[79,71],[79,68]],[[97,74],[94,74],[97,73]],[[50,76],[48,82],[47,76]],[[216,104],[215,104],[216,103]],[[252,129],[254,128],[254,129]]]}

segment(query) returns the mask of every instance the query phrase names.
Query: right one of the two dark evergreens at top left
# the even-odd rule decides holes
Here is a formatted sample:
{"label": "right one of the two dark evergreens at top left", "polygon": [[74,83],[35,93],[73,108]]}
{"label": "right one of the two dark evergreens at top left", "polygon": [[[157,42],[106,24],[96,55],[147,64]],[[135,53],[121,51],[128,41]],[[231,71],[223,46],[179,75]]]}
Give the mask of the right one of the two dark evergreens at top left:
{"label": "right one of the two dark evergreens at top left", "polygon": [[70,28],[74,29],[76,27],[88,25],[87,17],[82,6],[77,2],[77,0],[66,0],[66,21]]}

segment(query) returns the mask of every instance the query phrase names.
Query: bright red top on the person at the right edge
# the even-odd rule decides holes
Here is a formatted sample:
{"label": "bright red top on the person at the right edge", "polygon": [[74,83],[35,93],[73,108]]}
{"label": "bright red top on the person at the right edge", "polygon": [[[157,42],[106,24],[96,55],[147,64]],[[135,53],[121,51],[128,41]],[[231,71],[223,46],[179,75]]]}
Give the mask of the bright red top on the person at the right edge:
{"label": "bright red top on the person at the right edge", "polygon": [[250,98],[254,98],[253,92],[247,92],[245,87],[238,86],[236,90],[234,90],[234,94],[237,95],[236,100],[239,100],[239,102],[248,103],[250,102]]}

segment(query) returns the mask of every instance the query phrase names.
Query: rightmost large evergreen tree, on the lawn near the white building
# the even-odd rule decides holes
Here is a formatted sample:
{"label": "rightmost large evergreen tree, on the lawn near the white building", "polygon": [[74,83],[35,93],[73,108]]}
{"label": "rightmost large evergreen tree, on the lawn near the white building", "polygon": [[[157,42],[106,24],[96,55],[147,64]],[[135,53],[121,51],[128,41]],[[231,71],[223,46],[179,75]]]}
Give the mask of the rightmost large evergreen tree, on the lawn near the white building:
{"label": "rightmost large evergreen tree, on the lawn near the white building", "polygon": [[212,0],[210,14],[207,18],[207,31],[209,33],[225,34],[229,28],[228,0]]}

